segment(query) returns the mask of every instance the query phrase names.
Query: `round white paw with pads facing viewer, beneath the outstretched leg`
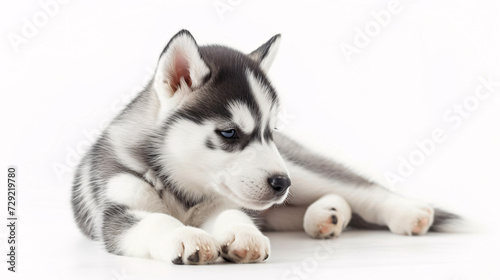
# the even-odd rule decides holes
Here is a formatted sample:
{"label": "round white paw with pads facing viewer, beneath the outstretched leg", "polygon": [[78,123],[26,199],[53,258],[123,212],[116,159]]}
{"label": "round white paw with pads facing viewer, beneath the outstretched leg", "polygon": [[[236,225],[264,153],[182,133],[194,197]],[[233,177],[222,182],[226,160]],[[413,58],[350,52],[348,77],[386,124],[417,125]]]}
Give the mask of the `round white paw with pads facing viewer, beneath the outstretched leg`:
{"label": "round white paw with pads facing viewer, beneath the outstretched leg", "polygon": [[304,215],[304,230],[313,238],[338,237],[346,225],[344,214],[335,207],[312,204]]}

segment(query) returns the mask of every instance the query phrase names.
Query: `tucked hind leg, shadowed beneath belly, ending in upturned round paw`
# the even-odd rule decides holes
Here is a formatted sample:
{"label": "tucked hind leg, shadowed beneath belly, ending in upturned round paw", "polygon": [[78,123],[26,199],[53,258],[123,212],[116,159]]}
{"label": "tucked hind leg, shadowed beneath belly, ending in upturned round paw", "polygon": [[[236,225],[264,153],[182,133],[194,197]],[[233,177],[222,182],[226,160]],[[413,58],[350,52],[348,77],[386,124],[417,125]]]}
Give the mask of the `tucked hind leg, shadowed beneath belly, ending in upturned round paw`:
{"label": "tucked hind leg, shadowed beneath belly, ending in upturned round paw", "polygon": [[332,238],[340,236],[349,223],[351,208],[342,197],[327,194],[309,206],[269,209],[262,218],[268,230],[304,230],[313,238]]}

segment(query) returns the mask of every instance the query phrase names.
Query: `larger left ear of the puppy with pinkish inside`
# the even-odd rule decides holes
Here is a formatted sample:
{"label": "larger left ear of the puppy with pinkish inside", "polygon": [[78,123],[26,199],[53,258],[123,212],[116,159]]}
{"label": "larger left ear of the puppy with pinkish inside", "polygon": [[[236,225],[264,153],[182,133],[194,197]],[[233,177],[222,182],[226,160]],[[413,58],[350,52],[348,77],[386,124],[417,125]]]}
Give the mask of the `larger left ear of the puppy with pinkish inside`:
{"label": "larger left ear of the puppy with pinkish inside", "polygon": [[171,97],[176,92],[193,91],[201,86],[210,69],[201,58],[198,44],[187,30],[181,30],[163,49],[154,87],[159,94]]}

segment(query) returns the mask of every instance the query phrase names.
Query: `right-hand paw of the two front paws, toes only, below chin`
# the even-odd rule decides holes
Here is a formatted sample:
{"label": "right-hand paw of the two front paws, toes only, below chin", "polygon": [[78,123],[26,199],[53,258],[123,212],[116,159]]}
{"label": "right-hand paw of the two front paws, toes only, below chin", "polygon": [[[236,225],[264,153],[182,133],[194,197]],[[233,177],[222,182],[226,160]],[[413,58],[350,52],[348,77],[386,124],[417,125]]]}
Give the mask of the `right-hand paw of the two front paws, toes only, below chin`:
{"label": "right-hand paw of the two front paws, toes only, below chin", "polygon": [[271,253],[269,238],[253,225],[238,225],[220,234],[222,258],[235,263],[265,261]]}

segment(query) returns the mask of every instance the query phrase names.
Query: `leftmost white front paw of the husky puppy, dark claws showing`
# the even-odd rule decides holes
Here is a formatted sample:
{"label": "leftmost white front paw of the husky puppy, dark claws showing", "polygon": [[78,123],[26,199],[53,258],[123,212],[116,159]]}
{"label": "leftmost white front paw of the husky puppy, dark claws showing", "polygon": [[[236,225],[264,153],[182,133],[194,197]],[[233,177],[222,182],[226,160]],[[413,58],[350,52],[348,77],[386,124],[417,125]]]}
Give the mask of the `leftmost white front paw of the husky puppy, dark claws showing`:
{"label": "leftmost white front paw of the husky puppy, dark claws showing", "polygon": [[182,227],[173,234],[174,264],[209,264],[219,257],[219,246],[215,239],[194,227]]}

